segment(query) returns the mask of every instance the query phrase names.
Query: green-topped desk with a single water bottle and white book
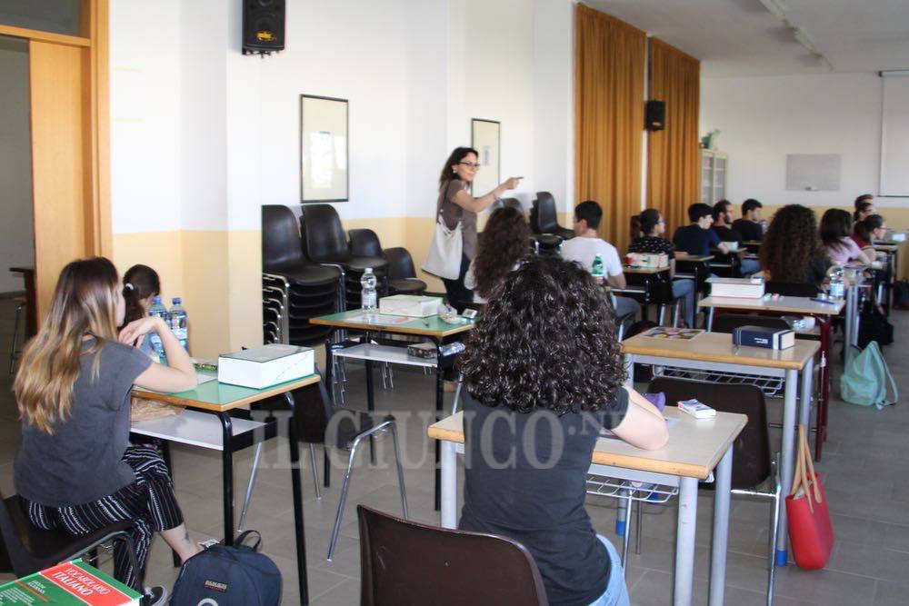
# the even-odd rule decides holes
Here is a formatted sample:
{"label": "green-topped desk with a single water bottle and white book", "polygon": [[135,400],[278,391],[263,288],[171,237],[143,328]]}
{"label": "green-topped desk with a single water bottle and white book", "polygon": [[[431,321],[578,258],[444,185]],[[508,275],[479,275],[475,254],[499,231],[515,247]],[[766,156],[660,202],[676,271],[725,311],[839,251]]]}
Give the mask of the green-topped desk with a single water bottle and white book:
{"label": "green-topped desk with a single water bottle and white book", "polygon": [[[362,318],[370,315],[365,313],[363,310],[352,310],[350,312],[341,312],[341,313],[331,313],[328,315],[320,315],[315,318],[310,318],[309,323],[312,324],[321,324],[324,326],[333,326],[336,329],[351,329],[355,331],[363,331],[366,333],[365,341],[369,341],[369,333],[390,333],[390,334],[410,334],[417,336],[424,336],[430,341],[435,343],[436,347],[440,347],[445,343],[446,339],[451,337],[466,333],[467,331],[474,328],[474,322],[470,321],[460,325],[454,325],[446,323],[439,316],[429,316],[426,318],[414,318],[410,320],[405,320],[405,322],[400,322],[398,319],[403,318],[403,316],[390,316],[383,313],[372,313],[375,316],[374,321],[372,322],[363,322]],[[392,320],[394,319],[394,320]],[[343,352],[343,350],[341,350]],[[333,348],[331,343],[326,344],[325,352],[330,353],[331,356],[334,356],[337,353],[337,348]],[[385,353],[382,353],[384,356]],[[366,370],[366,408],[372,412],[375,410],[375,391],[373,387],[373,363],[374,362],[387,362],[384,357],[365,355],[365,352],[361,352],[357,355],[359,359],[365,361],[365,370]],[[445,390],[443,389],[442,383],[442,371],[444,363],[449,362],[449,359],[443,358],[442,356],[436,356],[435,360],[435,420],[438,421],[442,418],[442,409],[445,403]],[[328,374],[326,380],[328,381],[328,389],[333,395],[335,390],[332,389],[332,375],[331,369],[333,364],[331,360],[326,363],[328,367]],[[440,507],[440,483],[441,475],[439,471],[439,445],[435,444],[435,509],[438,510]]]}

